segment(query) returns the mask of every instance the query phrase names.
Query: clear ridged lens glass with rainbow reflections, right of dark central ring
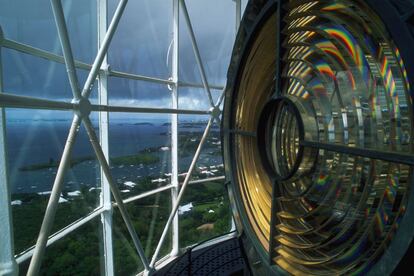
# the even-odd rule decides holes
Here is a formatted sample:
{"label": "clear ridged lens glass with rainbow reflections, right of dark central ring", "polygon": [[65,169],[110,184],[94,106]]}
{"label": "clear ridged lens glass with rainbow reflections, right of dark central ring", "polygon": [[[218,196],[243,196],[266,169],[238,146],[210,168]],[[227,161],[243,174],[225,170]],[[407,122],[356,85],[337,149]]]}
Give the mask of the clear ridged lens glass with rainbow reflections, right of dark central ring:
{"label": "clear ridged lens glass with rainbow reflections, right of dark central ring", "polygon": [[[304,109],[305,141],[411,152],[409,84],[379,18],[355,1],[290,8],[283,93]],[[321,149],[305,155],[313,174],[299,168],[279,184],[276,262],[291,272],[362,273],[404,215],[412,168]]]}

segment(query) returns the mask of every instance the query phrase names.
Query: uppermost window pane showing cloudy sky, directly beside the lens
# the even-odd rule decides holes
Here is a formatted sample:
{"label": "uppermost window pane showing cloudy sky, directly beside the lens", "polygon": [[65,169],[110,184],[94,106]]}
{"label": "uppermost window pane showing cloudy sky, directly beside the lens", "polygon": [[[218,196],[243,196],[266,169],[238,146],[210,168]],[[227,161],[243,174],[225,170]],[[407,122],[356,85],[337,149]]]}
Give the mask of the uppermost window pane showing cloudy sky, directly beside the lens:
{"label": "uppermost window pane showing cloudy sky, directly beside the lens", "polygon": [[[209,84],[226,83],[227,68],[235,38],[233,1],[186,1],[201,60]],[[201,83],[185,18],[180,13],[180,80]]]}

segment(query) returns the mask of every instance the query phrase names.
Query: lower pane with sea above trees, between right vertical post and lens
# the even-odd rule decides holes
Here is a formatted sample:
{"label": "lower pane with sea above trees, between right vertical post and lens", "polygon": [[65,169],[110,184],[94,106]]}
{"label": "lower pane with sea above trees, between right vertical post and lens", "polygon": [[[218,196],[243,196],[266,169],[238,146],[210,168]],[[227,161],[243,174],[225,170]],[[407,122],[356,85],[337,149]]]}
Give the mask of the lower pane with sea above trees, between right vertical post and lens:
{"label": "lower pane with sea above trees, between right vertical post and lens", "polygon": [[[180,181],[193,159],[206,127],[206,119],[179,116]],[[224,176],[220,131],[213,124],[201,151],[191,181]],[[190,184],[179,207],[181,246],[186,247],[230,231],[230,208],[224,180]]]}

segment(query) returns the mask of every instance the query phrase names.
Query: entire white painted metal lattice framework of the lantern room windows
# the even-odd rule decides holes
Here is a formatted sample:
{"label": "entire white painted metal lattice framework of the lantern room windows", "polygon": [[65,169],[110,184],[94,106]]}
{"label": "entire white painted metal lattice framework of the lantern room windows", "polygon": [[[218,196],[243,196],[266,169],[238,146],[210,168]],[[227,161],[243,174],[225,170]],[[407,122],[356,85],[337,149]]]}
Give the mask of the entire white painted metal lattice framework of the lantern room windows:
{"label": "entire white painted metal lattice framework of the lantern room windows", "polygon": [[[113,241],[112,241],[112,214],[113,209],[118,208],[122,218],[128,228],[128,231],[133,240],[137,254],[139,255],[143,265],[144,273],[151,274],[156,270],[158,255],[160,249],[163,246],[168,231],[172,231],[172,251],[166,257],[163,258],[164,262],[168,262],[172,258],[180,254],[180,240],[179,240],[179,219],[177,210],[180,205],[180,201],[185,193],[185,190],[189,184],[199,184],[212,180],[224,179],[224,176],[214,177],[210,179],[190,181],[192,172],[195,168],[196,161],[198,160],[203,144],[206,141],[207,135],[211,129],[214,121],[220,121],[220,105],[223,101],[223,93],[219,97],[218,101],[214,103],[211,95],[211,89],[223,89],[223,85],[211,85],[208,82],[203,61],[199,52],[196,37],[192,28],[190,16],[187,11],[185,0],[171,0],[173,1],[173,44],[172,44],[172,75],[168,80],[130,74],[126,72],[113,71],[110,69],[107,63],[107,52],[111,39],[116,32],[118,23],[122,17],[124,10],[127,8],[127,0],[120,0],[117,9],[110,22],[107,22],[108,3],[107,0],[97,1],[97,18],[98,18],[98,52],[93,64],[86,64],[74,59],[72,55],[71,43],[65,23],[65,16],[60,0],[51,0],[51,6],[54,13],[56,26],[60,38],[61,47],[63,50],[63,56],[56,55],[54,53],[41,50],[29,45],[25,45],[13,40],[3,37],[0,29],[0,47],[12,49],[18,52],[29,54],[32,56],[41,57],[53,62],[58,62],[66,65],[70,86],[72,89],[73,100],[71,102],[53,101],[35,97],[23,97],[16,96],[8,91],[2,89],[2,66],[0,56],[0,274],[2,275],[17,275],[18,263],[22,263],[31,258],[28,275],[37,275],[39,273],[42,256],[44,255],[47,246],[65,237],[75,229],[81,227],[85,223],[91,221],[96,217],[101,218],[102,223],[102,243],[104,248],[104,274],[114,274],[114,257],[113,257]],[[189,1],[189,0],[187,0]],[[200,71],[202,84],[185,83],[181,82],[178,77],[179,69],[179,33],[180,33],[180,11],[184,15],[183,22],[187,26],[190,34],[194,55]],[[241,14],[241,0],[235,0],[235,14],[236,14],[236,27],[239,25]],[[76,75],[77,69],[88,70],[89,75],[86,82],[81,86]],[[127,107],[127,106],[111,106],[108,104],[108,77],[114,76],[118,78],[142,80],[152,83],[167,84],[172,88],[172,108],[141,108],[141,107]],[[97,80],[97,82],[96,82]],[[89,96],[91,94],[94,84],[98,86],[99,99],[98,104],[91,104]],[[208,101],[210,103],[209,110],[183,110],[178,109],[178,88],[179,87],[195,87],[204,88]],[[9,91],[12,92],[12,91]],[[5,112],[4,108],[23,108],[23,109],[46,109],[46,110],[73,110],[73,121],[69,130],[69,134],[66,140],[65,147],[63,149],[61,162],[58,167],[56,178],[53,184],[53,190],[50,195],[50,199],[47,205],[46,213],[41,225],[40,234],[37,239],[36,245],[27,249],[25,252],[14,256],[13,250],[13,231],[11,223],[11,207],[10,207],[10,188],[8,186],[7,179],[7,163],[6,156],[6,137],[5,137]],[[95,133],[89,115],[91,112],[99,112],[99,133]],[[113,180],[110,167],[108,164],[109,155],[109,142],[108,142],[108,113],[110,112],[129,112],[129,113],[170,113],[171,114],[171,164],[172,164],[172,176],[171,183],[169,185],[147,191],[145,193],[132,196],[127,199],[122,199],[118,186]],[[197,151],[192,159],[191,165],[186,174],[183,183],[179,183],[178,180],[178,115],[179,114],[199,114],[209,115],[207,126],[203,133],[203,136],[199,142]],[[85,127],[89,136],[90,142],[94,149],[97,160],[101,166],[101,198],[100,206],[92,211],[87,216],[71,223],[67,227],[61,229],[56,233],[51,233],[54,217],[56,214],[56,208],[61,194],[63,179],[65,172],[68,169],[71,151],[74,142],[79,132],[81,124]],[[168,217],[162,236],[158,242],[157,248],[151,259],[147,259],[144,254],[139,236],[135,232],[131,219],[125,208],[125,204],[142,199],[144,197],[160,193],[162,191],[170,190],[172,197],[171,213]],[[115,202],[111,201],[112,198]]]}

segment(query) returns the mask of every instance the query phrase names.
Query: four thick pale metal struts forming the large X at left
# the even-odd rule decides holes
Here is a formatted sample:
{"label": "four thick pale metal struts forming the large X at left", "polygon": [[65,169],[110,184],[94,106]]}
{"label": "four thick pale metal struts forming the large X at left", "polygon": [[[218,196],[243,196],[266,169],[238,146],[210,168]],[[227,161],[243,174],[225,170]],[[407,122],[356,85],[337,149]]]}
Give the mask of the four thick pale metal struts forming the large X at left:
{"label": "four thick pale metal struts forming the large X at left", "polygon": [[[59,25],[58,22],[64,21],[64,14],[63,14],[63,10],[62,10],[62,6],[60,3],[55,3],[55,2],[60,2],[60,0],[51,0],[51,4],[52,4],[52,8],[54,9],[54,14],[57,17],[62,17],[62,18],[58,18],[56,19],[56,24],[58,25],[58,28],[61,28],[63,32],[67,32],[66,30],[66,26],[65,25]],[[92,69],[89,72],[88,78],[85,82],[84,85],[84,89],[82,92],[82,95],[79,98],[79,95],[76,91],[78,91],[76,87],[72,86],[72,92],[74,94],[74,98],[75,100],[80,100],[81,98],[83,99],[87,99],[90,95],[90,92],[92,91],[92,87],[93,87],[93,83],[94,80],[97,77],[97,74],[99,72],[99,68],[102,65],[102,62],[104,60],[104,57],[106,55],[106,52],[108,50],[110,41],[113,37],[113,33],[116,30],[117,24],[119,23],[119,20],[122,16],[123,10],[125,9],[125,5],[127,3],[127,0],[121,0],[120,3],[118,4],[118,7],[115,11],[114,17],[112,18],[111,24],[108,28],[108,31],[105,35],[104,41],[102,43],[102,46],[100,47],[97,57],[95,58],[95,61],[92,65]],[[62,43],[67,43],[65,46],[62,45],[62,48],[67,49],[67,53],[65,55],[65,62],[66,64],[72,64],[73,65],[73,56],[71,56],[70,53],[70,44],[69,44],[69,40],[64,41],[62,40]],[[71,67],[71,65],[67,65],[67,67]],[[68,70],[68,74],[69,77],[71,78],[71,74],[76,74],[76,72],[72,72],[71,70]],[[73,77],[73,76],[72,76]],[[74,80],[74,79],[72,79]],[[75,82],[73,82],[73,84],[75,84]],[[40,233],[36,242],[36,246],[35,246],[35,251],[32,257],[32,260],[30,262],[29,265],[29,269],[28,269],[28,275],[37,275],[39,273],[40,270],[40,265],[41,265],[41,259],[44,255],[44,251],[46,248],[46,244],[47,244],[47,240],[48,240],[48,235],[50,233],[51,227],[53,225],[53,220],[55,218],[55,214],[56,214],[56,208],[57,208],[57,204],[60,198],[60,194],[61,194],[61,190],[62,190],[62,186],[63,186],[63,180],[64,180],[64,175],[65,175],[65,171],[68,168],[69,162],[70,162],[70,154],[72,151],[72,147],[75,141],[75,138],[79,132],[79,126],[81,124],[82,119],[84,120],[85,123],[85,128],[86,131],[88,133],[90,142],[95,150],[95,154],[97,159],[100,162],[101,168],[109,182],[109,185],[111,187],[111,191],[112,194],[115,198],[115,200],[117,201],[118,207],[120,208],[120,212],[121,215],[125,221],[125,224],[128,228],[128,231],[131,234],[131,237],[134,241],[134,245],[138,251],[138,254],[141,257],[141,260],[143,262],[143,265],[145,267],[145,269],[148,271],[149,270],[149,264],[148,264],[148,260],[146,259],[143,250],[142,250],[142,246],[141,243],[139,241],[138,235],[135,232],[135,229],[132,226],[131,220],[129,219],[128,213],[125,209],[125,206],[122,202],[122,198],[120,196],[119,193],[119,189],[118,187],[115,185],[115,183],[113,182],[111,173],[110,173],[110,169],[108,166],[108,163],[105,159],[105,156],[103,154],[102,148],[99,145],[98,142],[98,138],[95,134],[95,131],[93,130],[92,127],[92,123],[89,119],[89,114],[87,113],[83,113],[83,111],[81,111],[79,114],[77,112],[75,112],[74,115],[74,119],[69,131],[69,135],[67,138],[67,142],[62,154],[62,159],[61,162],[59,164],[59,168],[58,168],[58,172],[56,174],[56,178],[55,178],[55,182],[53,184],[53,189],[52,189],[52,193],[48,202],[48,206],[46,208],[46,213],[45,216],[43,218],[43,222],[42,222],[42,226],[40,229]]]}

